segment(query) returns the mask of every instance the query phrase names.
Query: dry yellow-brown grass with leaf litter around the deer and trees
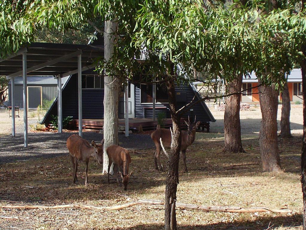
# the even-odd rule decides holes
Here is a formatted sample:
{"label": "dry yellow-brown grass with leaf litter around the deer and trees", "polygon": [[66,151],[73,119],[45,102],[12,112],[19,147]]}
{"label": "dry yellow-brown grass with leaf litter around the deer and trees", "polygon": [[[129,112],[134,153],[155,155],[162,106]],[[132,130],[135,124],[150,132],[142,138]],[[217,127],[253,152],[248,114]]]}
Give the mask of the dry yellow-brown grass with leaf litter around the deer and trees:
{"label": "dry yellow-brown grass with leaf litter around the deer and trees", "polygon": [[[280,141],[281,174],[263,173],[257,136],[244,136],[247,153],[223,153],[222,134],[197,134],[187,152],[189,174],[180,161],[179,202],[202,205],[266,206],[289,208],[293,214],[206,213],[177,210],[179,229],[293,229],[300,226],[302,194],[299,180],[301,136]],[[84,165],[79,166],[79,184],[72,183],[69,156],[4,164],[0,168],[2,200],[24,204],[117,205],[133,199],[163,199],[165,172],[154,170],[153,150],[132,155],[134,171],[124,192],[93,160],[89,186],[84,186]],[[162,155],[162,164],[166,158]],[[17,204],[1,201],[1,204]],[[0,229],[162,229],[162,206],[133,206],[120,211],[92,210],[1,210]],[[294,229],[302,229],[301,227]]]}

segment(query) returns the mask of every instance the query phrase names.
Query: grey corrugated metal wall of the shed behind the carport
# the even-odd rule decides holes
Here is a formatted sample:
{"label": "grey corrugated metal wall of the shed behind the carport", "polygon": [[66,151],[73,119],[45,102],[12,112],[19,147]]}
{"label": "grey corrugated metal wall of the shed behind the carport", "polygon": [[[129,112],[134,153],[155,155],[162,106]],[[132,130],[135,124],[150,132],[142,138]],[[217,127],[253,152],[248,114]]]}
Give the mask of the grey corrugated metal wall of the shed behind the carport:
{"label": "grey corrugated metal wall of the shed behind the carport", "polygon": [[[37,86],[37,85],[28,85],[28,86]],[[15,105],[19,108],[23,108],[23,86],[15,85]],[[43,100],[53,101],[57,96],[57,86],[54,85],[42,85],[42,94]],[[31,104],[31,97],[29,97],[29,104]],[[35,100],[35,99],[34,99]],[[9,87],[9,105],[11,105],[11,87]]]}

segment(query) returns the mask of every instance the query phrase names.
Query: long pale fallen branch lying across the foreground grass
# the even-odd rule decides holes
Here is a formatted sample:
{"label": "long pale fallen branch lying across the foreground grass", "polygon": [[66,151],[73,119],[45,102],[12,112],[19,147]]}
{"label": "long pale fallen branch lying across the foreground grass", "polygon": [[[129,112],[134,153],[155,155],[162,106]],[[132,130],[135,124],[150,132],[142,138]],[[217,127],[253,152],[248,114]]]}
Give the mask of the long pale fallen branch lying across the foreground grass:
{"label": "long pale fallen branch lying across the foreground grass", "polygon": [[[136,200],[123,205],[115,205],[109,207],[98,207],[93,205],[56,205],[56,206],[43,206],[43,205],[2,205],[0,209],[90,209],[90,210],[120,210],[125,209],[134,205],[164,205],[164,201],[159,200]],[[206,212],[228,212],[228,213],[292,213],[290,209],[271,209],[265,207],[254,207],[254,208],[242,208],[234,206],[204,206],[204,205],[192,205],[184,203],[176,203],[179,209],[194,209]]]}

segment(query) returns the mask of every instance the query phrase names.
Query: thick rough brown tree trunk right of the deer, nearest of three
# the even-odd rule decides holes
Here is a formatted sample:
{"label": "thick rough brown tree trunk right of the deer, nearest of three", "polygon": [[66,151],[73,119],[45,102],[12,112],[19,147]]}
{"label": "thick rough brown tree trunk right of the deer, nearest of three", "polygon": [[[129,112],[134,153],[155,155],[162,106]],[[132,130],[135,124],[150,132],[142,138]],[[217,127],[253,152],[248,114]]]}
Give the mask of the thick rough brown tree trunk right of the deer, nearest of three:
{"label": "thick rough brown tree trunk right of the deer, nearest of three", "polygon": [[259,86],[259,103],[262,121],[259,148],[263,171],[282,171],[277,142],[278,94],[275,86]]}

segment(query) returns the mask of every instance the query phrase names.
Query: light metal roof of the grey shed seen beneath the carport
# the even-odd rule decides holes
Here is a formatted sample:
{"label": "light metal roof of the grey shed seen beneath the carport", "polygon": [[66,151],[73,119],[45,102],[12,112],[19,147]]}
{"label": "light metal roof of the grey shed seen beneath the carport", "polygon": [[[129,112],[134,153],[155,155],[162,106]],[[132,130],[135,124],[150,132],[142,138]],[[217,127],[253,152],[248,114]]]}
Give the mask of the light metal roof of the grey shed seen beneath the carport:
{"label": "light metal roof of the grey shed seen beneath the carport", "polygon": [[[68,77],[62,78],[62,85],[65,84]],[[23,79],[22,77],[15,77],[15,85],[22,85]],[[9,81],[9,85],[11,84],[11,80]],[[27,77],[28,85],[57,85],[57,79],[53,76],[29,76]]]}

